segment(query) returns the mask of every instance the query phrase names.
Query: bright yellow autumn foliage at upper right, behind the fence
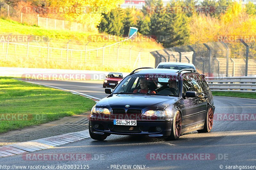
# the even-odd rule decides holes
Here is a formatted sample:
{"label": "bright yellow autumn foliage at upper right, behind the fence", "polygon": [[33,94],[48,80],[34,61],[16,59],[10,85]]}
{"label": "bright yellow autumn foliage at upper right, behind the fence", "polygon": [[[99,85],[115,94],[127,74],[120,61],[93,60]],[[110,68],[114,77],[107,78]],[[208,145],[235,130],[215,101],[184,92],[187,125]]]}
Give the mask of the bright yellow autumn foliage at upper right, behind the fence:
{"label": "bright yellow autumn foliage at upper right, behind the fence", "polygon": [[234,2],[220,18],[193,15],[189,22],[190,44],[212,42],[217,35],[255,35],[256,16]]}

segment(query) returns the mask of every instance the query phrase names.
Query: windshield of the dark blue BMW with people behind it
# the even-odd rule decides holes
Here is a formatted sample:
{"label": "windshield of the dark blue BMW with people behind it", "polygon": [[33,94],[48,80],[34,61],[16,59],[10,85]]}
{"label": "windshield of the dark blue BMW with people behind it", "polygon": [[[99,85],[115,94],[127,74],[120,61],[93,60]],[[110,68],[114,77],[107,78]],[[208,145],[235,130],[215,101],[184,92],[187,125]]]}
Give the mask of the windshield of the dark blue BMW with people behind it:
{"label": "windshield of the dark blue BMW with people behind it", "polygon": [[179,96],[180,80],[174,75],[130,75],[116,87],[114,94]]}

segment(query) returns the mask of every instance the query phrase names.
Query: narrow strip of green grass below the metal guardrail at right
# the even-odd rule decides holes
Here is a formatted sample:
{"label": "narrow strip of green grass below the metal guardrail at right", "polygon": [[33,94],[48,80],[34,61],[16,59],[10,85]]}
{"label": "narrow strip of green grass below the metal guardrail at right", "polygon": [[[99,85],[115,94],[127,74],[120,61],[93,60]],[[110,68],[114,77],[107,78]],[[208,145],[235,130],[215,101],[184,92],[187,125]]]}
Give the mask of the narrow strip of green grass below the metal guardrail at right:
{"label": "narrow strip of green grass below the metal guardrail at right", "polygon": [[256,99],[255,92],[217,92],[212,91],[213,96],[240,97],[248,99]]}

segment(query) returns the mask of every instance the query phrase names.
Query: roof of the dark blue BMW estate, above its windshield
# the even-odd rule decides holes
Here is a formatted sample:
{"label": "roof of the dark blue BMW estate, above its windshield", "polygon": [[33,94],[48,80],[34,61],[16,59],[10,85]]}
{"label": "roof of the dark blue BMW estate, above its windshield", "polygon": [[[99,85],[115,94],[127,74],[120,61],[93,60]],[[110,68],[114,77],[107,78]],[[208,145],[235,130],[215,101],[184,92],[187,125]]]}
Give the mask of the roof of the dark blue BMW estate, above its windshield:
{"label": "roof of the dark blue BMW estate, above its windshield", "polygon": [[[140,71],[135,72],[132,75],[145,75],[145,74],[178,74],[180,70],[176,69],[142,69]],[[192,73],[191,71],[182,71],[180,76],[184,73]],[[193,73],[198,73],[198,72],[193,72]],[[199,74],[199,73],[198,73]]]}

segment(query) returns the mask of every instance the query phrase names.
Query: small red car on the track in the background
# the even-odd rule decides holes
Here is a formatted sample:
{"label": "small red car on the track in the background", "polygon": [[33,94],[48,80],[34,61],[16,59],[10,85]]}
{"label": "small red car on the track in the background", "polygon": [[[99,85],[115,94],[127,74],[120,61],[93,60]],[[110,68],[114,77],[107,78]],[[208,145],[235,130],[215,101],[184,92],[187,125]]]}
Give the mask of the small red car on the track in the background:
{"label": "small red car on the track in the background", "polygon": [[118,85],[121,80],[123,79],[122,73],[109,73],[108,76],[106,76],[106,79],[103,82],[103,87],[112,87],[115,88],[116,85]]}

